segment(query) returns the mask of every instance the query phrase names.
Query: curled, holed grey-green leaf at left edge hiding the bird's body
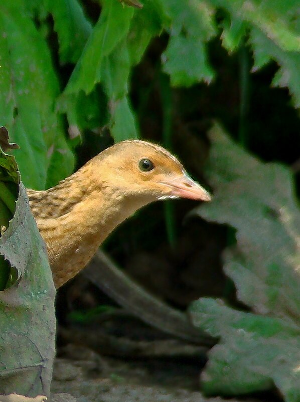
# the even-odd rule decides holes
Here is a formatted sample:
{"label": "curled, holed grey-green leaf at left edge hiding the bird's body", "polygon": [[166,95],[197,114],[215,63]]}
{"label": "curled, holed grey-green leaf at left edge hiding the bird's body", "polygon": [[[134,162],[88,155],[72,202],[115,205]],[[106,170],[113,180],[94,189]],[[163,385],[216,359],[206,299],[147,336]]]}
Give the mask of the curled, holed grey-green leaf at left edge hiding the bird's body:
{"label": "curled, holed grey-green leaf at left edge hiding the bird's body", "polygon": [[[14,147],[1,137],[2,144]],[[55,289],[15,158],[1,148],[0,188],[0,389],[2,393],[49,395]],[[4,216],[6,211],[8,216]]]}

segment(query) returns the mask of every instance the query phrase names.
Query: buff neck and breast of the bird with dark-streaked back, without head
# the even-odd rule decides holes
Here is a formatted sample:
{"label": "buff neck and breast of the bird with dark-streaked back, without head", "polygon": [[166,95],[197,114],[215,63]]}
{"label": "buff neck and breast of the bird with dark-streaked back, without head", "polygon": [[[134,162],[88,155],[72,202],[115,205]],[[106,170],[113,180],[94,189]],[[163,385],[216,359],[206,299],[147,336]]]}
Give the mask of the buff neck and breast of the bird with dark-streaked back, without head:
{"label": "buff neck and breast of the bird with dark-streaked back, without head", "polygon": [[94,180],[88,168],[47,191],[29,192],[56,287],[75,276],[121,222],[152,200],[130,197],[105,177]]}

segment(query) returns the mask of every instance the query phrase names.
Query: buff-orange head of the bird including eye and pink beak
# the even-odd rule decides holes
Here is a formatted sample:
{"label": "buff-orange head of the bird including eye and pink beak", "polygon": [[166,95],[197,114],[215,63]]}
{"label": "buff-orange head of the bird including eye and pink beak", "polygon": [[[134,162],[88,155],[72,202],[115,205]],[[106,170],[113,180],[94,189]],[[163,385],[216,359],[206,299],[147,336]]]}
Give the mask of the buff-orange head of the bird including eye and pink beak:
{"label": "buff-orange head of the bird including eye and pink beak", "polygon": [[[194,181],[179,160],[163,147],[140,140],[116,143],[101,152],[101,171],[116,191],[156,199],[190,198],[209,201],[209,193]],[[108,178],[107,178],[108,177]],[[105,178],[104,178],[105,181]]]}

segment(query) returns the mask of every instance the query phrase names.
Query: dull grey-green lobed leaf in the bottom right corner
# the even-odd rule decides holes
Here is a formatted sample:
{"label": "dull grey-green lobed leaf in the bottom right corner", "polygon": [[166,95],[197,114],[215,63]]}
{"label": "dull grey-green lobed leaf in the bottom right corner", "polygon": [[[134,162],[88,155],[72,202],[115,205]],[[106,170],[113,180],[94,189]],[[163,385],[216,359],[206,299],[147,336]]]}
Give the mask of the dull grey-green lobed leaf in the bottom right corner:
{"label": "dull grey-green lobed leaf in the bottom right corner", "polygon": [[194,302],[190,312],[196,326],[221,338],[201,377],[205,393],[235,395],[274,384],[286,402],[300,400],[299,327],[210,298]]}

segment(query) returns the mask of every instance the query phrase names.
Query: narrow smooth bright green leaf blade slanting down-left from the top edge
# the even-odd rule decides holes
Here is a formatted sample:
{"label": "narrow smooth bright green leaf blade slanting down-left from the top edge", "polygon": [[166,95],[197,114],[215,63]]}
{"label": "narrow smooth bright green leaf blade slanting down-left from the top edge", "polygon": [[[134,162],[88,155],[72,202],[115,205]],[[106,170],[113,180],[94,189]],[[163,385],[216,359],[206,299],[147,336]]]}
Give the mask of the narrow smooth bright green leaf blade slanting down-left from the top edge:
{"label": "narrow smooth bright green leaf blade slanting down-left from the top edge", "polygon": [[103,2],[100,18],[76,64],[65,93],[83,90],[88,94],[102,80],[102,60],[126,37],[133,13],[132,8],[123,8],[116,1]]}

